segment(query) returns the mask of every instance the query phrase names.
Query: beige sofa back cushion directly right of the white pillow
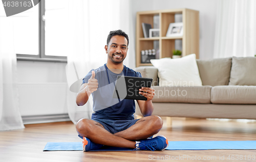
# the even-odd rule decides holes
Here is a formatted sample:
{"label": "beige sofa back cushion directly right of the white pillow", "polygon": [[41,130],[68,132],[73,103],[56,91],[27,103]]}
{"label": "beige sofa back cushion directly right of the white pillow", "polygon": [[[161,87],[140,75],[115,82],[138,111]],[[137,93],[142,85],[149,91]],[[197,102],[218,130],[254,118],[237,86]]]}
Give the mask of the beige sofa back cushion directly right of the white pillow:
{"label": "beige sofa back cushion directly right of the white pillow", "polygon": [[197,60],[203,86],[228,85],[231,60],[231,58]]}

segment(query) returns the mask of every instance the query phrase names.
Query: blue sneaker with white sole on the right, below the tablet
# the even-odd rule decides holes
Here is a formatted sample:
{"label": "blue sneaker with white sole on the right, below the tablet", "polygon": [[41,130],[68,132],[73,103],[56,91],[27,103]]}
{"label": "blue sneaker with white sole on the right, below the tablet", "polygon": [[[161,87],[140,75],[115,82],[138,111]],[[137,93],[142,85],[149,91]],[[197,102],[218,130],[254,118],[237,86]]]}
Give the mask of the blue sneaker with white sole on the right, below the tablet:
{"label": "blue sneaker with white sole on the right, below the tablet", "polygon": [[158,135],[153,139],[141,140],[135,146],[135,150],[164,150],[168,146],[168,140],[166,137]]}

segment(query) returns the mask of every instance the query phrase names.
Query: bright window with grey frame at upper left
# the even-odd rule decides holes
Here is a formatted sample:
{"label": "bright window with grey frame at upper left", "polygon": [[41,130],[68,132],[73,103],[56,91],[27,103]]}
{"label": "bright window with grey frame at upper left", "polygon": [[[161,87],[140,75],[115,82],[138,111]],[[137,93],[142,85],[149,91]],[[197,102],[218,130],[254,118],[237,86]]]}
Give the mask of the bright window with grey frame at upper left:
{"label": "bright window with grey frame at upper left", "polygon": [[40,1],[15,19],[18,60],[67,62],[65,18],[68,1]]}

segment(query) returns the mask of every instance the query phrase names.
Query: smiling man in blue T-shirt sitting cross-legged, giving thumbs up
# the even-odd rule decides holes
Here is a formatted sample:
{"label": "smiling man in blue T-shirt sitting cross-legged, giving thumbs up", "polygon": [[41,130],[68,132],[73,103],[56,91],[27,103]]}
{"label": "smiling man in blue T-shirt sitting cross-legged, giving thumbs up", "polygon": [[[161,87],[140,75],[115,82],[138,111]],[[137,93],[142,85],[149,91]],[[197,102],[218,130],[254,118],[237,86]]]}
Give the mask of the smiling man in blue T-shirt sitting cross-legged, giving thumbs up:
{"label": "smiling man in blue T-shirt sitting cross-legged, giving thumbs up", "polygon": [[140,89],[139,93],[147,98],[146,101],[137,100],[144,116],[141,119],[134,119],[134,100],[123,99],[111,104],[113,90],[110,92],[108,85],[114,85],[118,75],[141,77],[139,72],[123,65],[128,45],[129,38],[123,31],[110,32],[105,45],[108,55],[106,64],[91,70],[83,78],[76,103],[86,104],[92,94],[95,111],[92,120],[80,119],[76,124],[79,136],[83,137],[83,151],[99,149],[103,145],[153,151],[163,150],[168,146],[164,136],[150,139],[163,125],[160,117],[152,116],[154,89]]}

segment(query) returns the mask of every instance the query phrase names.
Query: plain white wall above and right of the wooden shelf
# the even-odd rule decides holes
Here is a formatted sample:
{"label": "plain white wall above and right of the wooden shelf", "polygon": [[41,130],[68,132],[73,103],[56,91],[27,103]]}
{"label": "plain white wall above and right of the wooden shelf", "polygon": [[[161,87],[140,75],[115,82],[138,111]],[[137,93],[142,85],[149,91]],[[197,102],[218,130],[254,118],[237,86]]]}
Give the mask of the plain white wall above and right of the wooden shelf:
{"label": "plain white wall above and right of the wooden shelf", "polygon": [[[138,11],[188,8],[199,11],[200,50],[199,58],[212,59],[214,56],[215,22],[219,0],[132,0],[134,28]],[[132,43],[132,42],[131,42]]]}

